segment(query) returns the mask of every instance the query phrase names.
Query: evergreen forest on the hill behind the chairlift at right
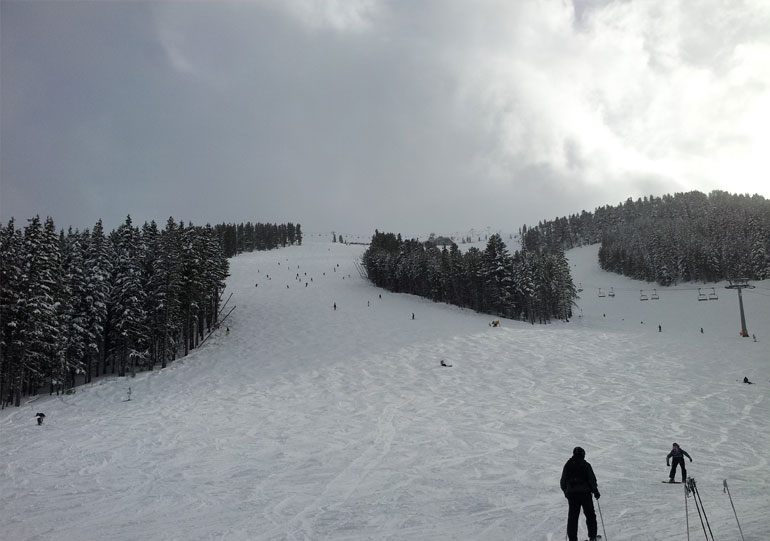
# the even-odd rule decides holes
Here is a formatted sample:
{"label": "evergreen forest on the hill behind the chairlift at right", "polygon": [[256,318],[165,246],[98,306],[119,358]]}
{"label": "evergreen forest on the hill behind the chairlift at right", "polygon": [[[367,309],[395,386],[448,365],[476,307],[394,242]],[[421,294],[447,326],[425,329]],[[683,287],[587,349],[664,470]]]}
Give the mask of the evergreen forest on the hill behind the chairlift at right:
{"label": "evergreen forest on the hill behind the chairlift at right", "polygon": [[521,230],[528,250],[601,243],[604,270],[661,285],[770,278],[770,201],[713,191],[650,196]]}

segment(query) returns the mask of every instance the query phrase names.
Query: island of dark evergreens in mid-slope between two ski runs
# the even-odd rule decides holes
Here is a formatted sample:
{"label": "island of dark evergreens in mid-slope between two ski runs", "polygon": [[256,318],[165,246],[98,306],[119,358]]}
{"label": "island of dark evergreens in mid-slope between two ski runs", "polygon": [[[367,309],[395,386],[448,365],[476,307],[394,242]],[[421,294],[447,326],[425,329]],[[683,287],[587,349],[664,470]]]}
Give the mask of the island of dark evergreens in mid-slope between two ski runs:
{"label": "island of dark evergreens in mid-slope between two ski runs", "polygon": [[362,263],[374,285],[389,291],[531,323],[569,319],[577,298],[563,251],[510,255],[499,234],[484,251],[463,253],[454,243],[439,249],[375,231]]}

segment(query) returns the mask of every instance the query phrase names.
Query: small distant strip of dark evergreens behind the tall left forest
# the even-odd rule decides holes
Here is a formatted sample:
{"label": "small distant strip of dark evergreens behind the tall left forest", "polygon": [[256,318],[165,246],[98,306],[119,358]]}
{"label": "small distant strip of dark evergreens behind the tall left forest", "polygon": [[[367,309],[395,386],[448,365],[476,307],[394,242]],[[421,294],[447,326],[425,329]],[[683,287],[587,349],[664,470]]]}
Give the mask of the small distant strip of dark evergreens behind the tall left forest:
{"label": "small distant strip of dark evergreens behind the tall left forest", "polygon": [[287,245],[302,244],[300,224],[219,224],[214,230],[222,239],[225,257],[233,257],[242,252],[285,248]]}

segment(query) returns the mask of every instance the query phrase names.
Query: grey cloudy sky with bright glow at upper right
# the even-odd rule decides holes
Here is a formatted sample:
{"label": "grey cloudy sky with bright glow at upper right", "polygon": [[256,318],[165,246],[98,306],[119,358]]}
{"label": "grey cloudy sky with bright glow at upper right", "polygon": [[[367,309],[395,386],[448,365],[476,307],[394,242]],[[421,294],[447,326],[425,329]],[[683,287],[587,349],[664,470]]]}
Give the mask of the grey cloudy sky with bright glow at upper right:
{"label": "grey cloudy sky with bright glow at upper right", "polygon": [[0,6],[4,223],[515,231],[770,197],[766,0]]}

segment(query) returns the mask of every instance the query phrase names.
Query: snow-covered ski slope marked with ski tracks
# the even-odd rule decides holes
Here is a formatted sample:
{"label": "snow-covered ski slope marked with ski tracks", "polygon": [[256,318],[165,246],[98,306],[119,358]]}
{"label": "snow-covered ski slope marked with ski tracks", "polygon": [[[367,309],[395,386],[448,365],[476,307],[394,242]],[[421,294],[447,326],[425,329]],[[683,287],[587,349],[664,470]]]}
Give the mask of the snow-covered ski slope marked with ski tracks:
{"label": "snow-covered ski slope marked with ski tracks", "polygon": [[608,540],[684,540],[688,519],[702,539],[682,485],[661,484],[676,441],[714,538],[740,539],[727,479],[745,539],[770,539],[770,283],[743,294],[754,342],[724,284],[718,301],[684,284],[641,302],[651,286],[586,247],[568,253],[575,318],[492,328],[373,288],[364,249],[241,255],[229,335],[0,412],[0,537],[561,540],[580,445]]}

